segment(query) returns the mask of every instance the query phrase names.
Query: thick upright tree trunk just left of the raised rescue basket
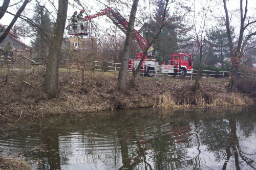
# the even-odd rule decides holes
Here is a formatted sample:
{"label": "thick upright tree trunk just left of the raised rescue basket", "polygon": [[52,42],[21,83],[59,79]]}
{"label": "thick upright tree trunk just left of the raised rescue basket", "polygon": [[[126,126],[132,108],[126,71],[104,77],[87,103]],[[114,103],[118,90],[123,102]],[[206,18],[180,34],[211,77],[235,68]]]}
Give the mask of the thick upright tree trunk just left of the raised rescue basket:
{"label": "thick upright tree trunk just left of the raised rescue basket", "polygon": [[60,48],[62,43],[62,37],[65,29],[65,23],[67,19],[68,0],[59,0],[58,2],[58,14],[57,20],[54,24],[54,32],[52,45],[50,47],[49,56],[47,58],[46,75],[44,82],[44,89],[48,94],[48,98],[57,98],[59,94],[58,90],[58,67]]}

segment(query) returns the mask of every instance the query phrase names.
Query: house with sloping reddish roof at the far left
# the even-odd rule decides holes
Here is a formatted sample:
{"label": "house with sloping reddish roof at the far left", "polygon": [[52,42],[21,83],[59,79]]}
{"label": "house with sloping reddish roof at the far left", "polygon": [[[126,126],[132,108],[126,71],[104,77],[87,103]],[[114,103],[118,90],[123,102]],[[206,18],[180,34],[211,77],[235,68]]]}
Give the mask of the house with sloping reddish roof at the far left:
{"label": "house with sloping reddish roof at the far left", "polygon": [[[4,31],[7,27],[0,23],[0,36],[3,35]],[[0,50],[4,50],[7,44],[12,46],[12,56],[13,57],[22,57],[26,56],[28,58],[31,57],[31,49],[30,46],[25,44],[24,42],[18,39],[18,36],[10,30],[6,38],[0,43]]]}

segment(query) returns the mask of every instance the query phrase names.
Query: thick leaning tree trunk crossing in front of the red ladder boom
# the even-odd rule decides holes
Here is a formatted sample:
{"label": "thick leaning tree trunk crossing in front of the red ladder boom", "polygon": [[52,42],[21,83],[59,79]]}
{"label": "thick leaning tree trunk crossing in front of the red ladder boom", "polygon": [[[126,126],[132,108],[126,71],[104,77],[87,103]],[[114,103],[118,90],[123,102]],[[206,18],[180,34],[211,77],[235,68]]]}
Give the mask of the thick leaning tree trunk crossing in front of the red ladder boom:
{"label": "thick leaning tree trunk crossing in front of the red ladder boom", "polygon": [[122,65],[119,71],[118,83],[117,83],[117,89],[120,90],[121,92],[126,92],[127,90],[127,69],[128,69],[129,54],[130,54],[130,49],[131,49],[131,44],[133,39],[134,22],[135,22],[138,3],[139,3],[139,0],[133,1],[132,11],[131,11],[131,15],[128,23],[127,35],[124,43],[122,62],[121,62]]}

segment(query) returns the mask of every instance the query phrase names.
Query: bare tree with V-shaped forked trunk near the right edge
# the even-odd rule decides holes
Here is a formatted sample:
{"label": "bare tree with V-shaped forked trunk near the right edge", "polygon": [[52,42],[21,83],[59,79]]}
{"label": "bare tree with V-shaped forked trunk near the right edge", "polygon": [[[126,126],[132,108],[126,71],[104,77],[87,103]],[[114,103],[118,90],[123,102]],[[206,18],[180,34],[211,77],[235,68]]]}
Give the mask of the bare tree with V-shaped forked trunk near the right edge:
{"label": "bare tree with V-shaped forked trunk near the right edge", "polygon": [[[240,33],[237,41],[237,46],[235,46],[231,37],[231,29],[230,29],[231,18],[229,17],[229,14],[228,14],[226,0],[223,0],[224,10],[225,10],[225,19],[226,19],[227,37],[229,42],[229,53],[230,53],[230,59],[231,59],[231,72],[230,72],[231,79],[229,83],[229,88],[231,90],[235,90],[237,88],[238,71],[239,71],[239,66],[241,64],[241,60],[244,54],[245,45],[253,35],[256,35],[256,31],[255,31],[256,18],[252,16],[247,16],[248,0],[245,0],[245,6],[243,6],[243,2],[244,2],[243,0],[240,0],[240,30],[239,30]],[[248,32],[246,35],[245,35],[245,31]]]}

